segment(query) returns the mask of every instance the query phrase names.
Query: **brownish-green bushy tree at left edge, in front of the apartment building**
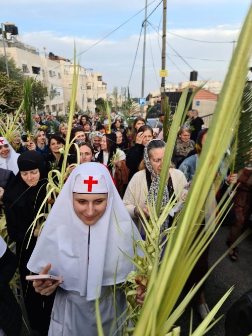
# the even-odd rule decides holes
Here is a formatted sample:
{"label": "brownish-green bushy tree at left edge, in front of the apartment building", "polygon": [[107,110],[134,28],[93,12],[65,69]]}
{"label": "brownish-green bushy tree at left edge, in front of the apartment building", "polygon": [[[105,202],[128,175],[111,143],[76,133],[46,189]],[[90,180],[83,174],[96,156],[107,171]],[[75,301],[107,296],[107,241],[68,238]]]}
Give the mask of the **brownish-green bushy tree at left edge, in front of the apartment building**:
{"label": "brownish-green bushy tree at left edge, in front of the apartment building", "polygon": [[0,110],[11,113],[19,108],[22,102],[23,86],[0,72]]}

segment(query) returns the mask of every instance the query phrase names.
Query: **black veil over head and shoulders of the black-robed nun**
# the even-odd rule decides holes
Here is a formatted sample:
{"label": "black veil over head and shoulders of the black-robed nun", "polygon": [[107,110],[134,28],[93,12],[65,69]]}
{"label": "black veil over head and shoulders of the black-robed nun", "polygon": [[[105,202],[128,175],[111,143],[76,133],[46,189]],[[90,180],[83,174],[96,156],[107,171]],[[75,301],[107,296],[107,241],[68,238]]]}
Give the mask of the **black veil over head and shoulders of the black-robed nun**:
{"label": "black veil over head and shoulders of the black-robed nun", "polygon": [[[18,167],[18,174],[4,193],[4,202],[8,202],[13,209],[24,207],[27,216],[32,219],[46,196],[47,175],[45,161],[41,153],[34,150],[26,151],[18,157]],[[25,172],[35,169],[39,170],[39,181],[36,186],[29,187],[22,179],[20,171]]]}

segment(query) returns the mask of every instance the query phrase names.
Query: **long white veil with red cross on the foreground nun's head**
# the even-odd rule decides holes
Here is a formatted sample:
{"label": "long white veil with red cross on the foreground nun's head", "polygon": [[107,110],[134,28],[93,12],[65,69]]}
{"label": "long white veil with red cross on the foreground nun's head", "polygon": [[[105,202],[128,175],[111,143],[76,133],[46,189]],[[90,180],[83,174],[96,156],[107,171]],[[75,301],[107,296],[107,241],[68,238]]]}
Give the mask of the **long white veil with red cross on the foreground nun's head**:
{"label": "long white veil with red cross on the foreground nun's head", "polygon": [[[93,184],[88,184],[91,180]],[[74,211],[73,191],[84,194],[108,191],[103,216],[90,226],[89,251],[89,227]],[[116,219],[123,234],[118,231]],[[62,288],[94,300],[97,293],[100,296],[102,286],[114,284],[117,261],[116,284],[124,282],[133,270],[132,263],[119,250],[133,258],[132,236],[138,237],[134,223],[133,230],[131,217],[107,168],[96,162],[83,163],[71,173],[59,193],[27,267],[34,273],[40,273],[50,262],[49,273],[63,274],[65,278],[60,285]]]}

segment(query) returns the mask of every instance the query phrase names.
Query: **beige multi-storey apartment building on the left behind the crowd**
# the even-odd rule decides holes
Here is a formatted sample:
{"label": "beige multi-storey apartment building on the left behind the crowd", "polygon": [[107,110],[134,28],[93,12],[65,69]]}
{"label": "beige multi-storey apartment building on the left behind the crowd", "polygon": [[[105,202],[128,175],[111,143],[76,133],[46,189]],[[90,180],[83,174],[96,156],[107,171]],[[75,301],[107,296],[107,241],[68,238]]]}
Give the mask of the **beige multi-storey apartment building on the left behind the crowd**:
{"label": "beige multi-storey apartment building on the left behind the crowd", "polygon": [[[4,54],[3,35],[0,39],[0,53]],[[34,46],[23,43],[20,36],[8,33],[5,38],[6,53],[13,57],[18,68],[25,76],[41,80],[47,87],[45,113],[67,112],[71,98],[74,63],[54,55],[52,52],[39,52]],[[76,101],[82,111],[95,112],[95,100],[106,99],[107,84],[103,82],[102,73],[79,66]],[[43,112],[38,111],[38,112]]]}

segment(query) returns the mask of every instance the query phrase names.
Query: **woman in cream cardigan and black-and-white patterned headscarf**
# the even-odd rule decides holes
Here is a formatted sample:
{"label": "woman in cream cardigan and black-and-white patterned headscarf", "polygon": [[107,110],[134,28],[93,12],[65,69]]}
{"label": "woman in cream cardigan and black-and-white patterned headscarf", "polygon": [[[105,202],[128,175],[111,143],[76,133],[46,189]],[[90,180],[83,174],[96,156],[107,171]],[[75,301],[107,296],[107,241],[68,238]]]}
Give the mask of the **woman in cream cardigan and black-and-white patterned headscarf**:
{"label": "woman in cream cardigan and black-and-white patterned headscarf", "polygon": [[[149,200],[151,200],[153,193],[154,200],[156,201],[159,187],[159,175],[161,173],[164,158],[164,149],[165,142],[162,140],[151,140],[146,144],[144,160],[141,162],[139,167],[140,171],[131,179],[123,197],[123,203],[142,235],[145,235],[145,233],[139,218],[140,212],[137,203],[141,206],[144,214],[148,218],[149,212],[146,205],[146,196]],[[173,192],[175,196],[178,195],[178,200],[181,200],[185,194],[185,191],[183,191],[185,185],[186,179],[183,173],[174,169],[173,165],[171,165],[167,176],[167,185],[165,188],[162,206],[167,204],[169,198],[173,195]],[[169,218],[167,217],[161,227],[161,231],[168,227],[168,220]]]}

